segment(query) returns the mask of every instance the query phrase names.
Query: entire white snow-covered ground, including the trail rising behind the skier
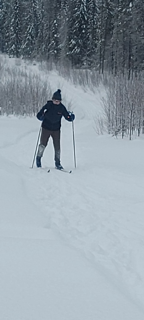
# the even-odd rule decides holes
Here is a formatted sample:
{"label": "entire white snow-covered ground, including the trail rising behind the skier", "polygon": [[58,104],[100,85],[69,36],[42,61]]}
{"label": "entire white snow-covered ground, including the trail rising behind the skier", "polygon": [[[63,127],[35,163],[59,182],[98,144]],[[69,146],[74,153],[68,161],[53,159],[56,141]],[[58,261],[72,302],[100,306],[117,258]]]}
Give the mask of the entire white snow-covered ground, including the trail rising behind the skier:
{"label": "entire white snow-covered ground, including the trail rising behind the skier", "polygon": [[143,320],[143,137],[97,136],[100,93],[49,80],[73,101],[77,168],[71,123],[68,174],[54,168],[51,140],[43,169],[30,169],[36,117],[0,116],[0,320]]}

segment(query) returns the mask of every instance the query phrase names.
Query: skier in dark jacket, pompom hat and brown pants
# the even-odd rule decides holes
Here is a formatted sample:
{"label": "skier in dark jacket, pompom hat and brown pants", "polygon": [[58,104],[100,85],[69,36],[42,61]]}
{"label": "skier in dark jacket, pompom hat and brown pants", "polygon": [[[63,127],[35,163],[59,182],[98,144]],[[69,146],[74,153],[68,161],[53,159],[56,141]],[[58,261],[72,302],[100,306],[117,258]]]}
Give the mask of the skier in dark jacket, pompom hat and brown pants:
{"label": "skier in dark jacket, pompom hat and brown pants", "polygon": [[55,167],[58,170],[64,169],[60,163],[61,118],[64,116],[66,120],[73,121],[75,116],[70,111],[67,111],[61,100],[61,90],[58,89],[54,92],[52,100],[47,101],[37,114],[38,120],[42,121],[40,144],[36,156],[36,166],[38,168],[42,167],[41,158],[51,136],[55,150]]}

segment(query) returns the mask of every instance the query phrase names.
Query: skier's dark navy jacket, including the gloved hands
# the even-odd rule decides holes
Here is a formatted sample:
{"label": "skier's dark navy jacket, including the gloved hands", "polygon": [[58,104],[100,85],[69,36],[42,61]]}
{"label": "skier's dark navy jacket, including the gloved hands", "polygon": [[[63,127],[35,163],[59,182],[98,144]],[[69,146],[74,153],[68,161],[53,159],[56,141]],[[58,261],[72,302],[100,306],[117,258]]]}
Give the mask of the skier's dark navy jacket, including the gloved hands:
{"label": "skier's dark navy jacket, including the gloved hands", "polygon": [[42,128],[51,131],[60,129],[62,116],[68,121],[74,120],[74,115],[71,115],[61,102],[55,105],[52,100],[47,101],[37,114],[37,118],[42,120]]}

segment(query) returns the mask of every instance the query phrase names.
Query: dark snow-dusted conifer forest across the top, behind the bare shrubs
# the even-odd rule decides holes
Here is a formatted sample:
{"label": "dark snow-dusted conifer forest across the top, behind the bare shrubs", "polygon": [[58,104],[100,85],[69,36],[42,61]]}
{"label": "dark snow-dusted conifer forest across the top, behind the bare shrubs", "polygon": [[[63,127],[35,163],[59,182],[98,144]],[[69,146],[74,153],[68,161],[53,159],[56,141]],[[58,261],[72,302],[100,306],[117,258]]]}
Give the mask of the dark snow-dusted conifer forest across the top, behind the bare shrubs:
{"label": "dark snow-dusted conifer forest across the top, behind the bare shrubs", "polygon": [[144,1],[0,0],[0,51],[133,77],[144,68]]}

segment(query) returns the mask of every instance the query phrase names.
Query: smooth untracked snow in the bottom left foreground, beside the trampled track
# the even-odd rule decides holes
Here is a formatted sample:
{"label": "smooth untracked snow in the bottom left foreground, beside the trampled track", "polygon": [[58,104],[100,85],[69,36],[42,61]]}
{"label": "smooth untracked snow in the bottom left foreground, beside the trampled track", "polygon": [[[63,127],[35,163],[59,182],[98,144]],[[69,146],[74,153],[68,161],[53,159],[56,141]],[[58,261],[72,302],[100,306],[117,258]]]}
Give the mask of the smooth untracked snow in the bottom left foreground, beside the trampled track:
{"label": "smooth untracked snow in the bottom left foreground, beside the trampled track", "polygon": [[142,319],[85,259],[53,237],[1,238],[1,248],[2,319]]}

